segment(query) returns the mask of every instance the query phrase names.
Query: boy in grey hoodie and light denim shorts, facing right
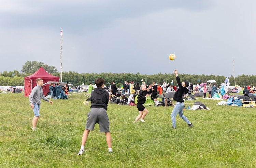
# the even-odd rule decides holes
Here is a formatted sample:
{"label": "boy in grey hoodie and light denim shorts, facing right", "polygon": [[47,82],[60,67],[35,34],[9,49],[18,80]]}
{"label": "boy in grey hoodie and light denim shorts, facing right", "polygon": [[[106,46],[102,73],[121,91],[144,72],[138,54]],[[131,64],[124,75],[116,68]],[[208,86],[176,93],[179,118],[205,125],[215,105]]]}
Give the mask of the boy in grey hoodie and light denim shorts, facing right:
{"label": "boy in grey hoodie and light denim shorts, facing right", "polygon": [[32,89],[30,95],[28,96],[30,107],[33,109],[33,112],[34,112],[34,117],[33,117],[32,126],[31,126],[32,131],[37,131],[36,126],[40,116],[39,110],[40,110],[41,99],[53,104],[51,100],[44,97],[44,94],[43,94],[44,81],[41,78],[38,78],[37,80],[35,80],[35,82],[37,82],[37,86],[35,86]]}

